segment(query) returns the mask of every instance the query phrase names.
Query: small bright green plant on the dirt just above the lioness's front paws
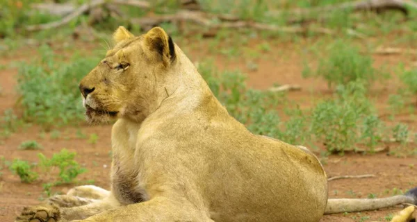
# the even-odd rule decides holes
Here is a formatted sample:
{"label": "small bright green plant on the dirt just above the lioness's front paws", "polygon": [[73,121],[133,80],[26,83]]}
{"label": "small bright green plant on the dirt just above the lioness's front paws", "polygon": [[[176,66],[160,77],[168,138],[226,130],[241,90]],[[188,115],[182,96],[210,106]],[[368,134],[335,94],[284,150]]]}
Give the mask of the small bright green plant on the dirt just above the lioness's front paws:
{"label": "small bright green plant on the dirt just above the lioness's front paws", "polygon": [[39,165],[47,171],[50,171],[51,167],[57,167],[59,169],[59,180],[54,185],[71,183],[79,174],[86,171],[85,168],[80,167],[79,163],[74,160],[75,155],[75,152],[67,151],[65,148],[59,153],[54,153],[51,159],[48,159],[42,153],[38,153],[40,159]]}

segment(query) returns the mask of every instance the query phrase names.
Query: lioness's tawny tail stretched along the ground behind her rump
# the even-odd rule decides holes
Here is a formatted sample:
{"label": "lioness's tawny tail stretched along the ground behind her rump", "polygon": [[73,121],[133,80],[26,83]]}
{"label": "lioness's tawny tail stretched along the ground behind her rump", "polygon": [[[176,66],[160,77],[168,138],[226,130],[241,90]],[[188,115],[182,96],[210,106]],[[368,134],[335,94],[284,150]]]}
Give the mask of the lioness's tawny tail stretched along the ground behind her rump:
{"label": "lioness's tawny tail stretched along the ground behind her rump", "polygon": [[417,187],[409,190],[404,195],[375,199],[329,199],[325,214],[337,214],[344,212],[361,212],[366,210],[378,210],[385,207],[393,207],[402,203],[417,205]]}

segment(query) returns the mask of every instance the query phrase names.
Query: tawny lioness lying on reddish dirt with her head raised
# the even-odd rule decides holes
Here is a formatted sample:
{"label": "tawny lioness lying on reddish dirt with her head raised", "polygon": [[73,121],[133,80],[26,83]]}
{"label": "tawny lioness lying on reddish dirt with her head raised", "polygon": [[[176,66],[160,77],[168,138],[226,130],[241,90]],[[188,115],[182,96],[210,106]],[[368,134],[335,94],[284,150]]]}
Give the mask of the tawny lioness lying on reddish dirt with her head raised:
{"label": "tawny lioness lying on reddish dirt with her head raised", "polygon": [[254,135],[213,96],[162,28],[117,43],[79,88],[88,121],[117,119],[111,191],[75,187],[16,221],[319,221],[325,213],[416,203],[329,199],[313,153]]}

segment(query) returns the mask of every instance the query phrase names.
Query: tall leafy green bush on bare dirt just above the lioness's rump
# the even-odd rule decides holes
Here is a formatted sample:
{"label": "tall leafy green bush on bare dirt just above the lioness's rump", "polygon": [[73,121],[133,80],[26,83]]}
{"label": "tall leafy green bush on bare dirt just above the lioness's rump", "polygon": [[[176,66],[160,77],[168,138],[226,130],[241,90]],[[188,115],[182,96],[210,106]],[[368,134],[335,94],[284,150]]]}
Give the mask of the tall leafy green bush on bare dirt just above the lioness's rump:
{"label": "tall leafy green bush on bare dirt just above the lioness's rump", "polygon": [[318,103],[311,111],[311,133],[324,141],[330,153],[354,150],[361,138],[374,146],[379,139],[379,119],[370,117],[372,114],[363,82],[339,85],[334,99]]}

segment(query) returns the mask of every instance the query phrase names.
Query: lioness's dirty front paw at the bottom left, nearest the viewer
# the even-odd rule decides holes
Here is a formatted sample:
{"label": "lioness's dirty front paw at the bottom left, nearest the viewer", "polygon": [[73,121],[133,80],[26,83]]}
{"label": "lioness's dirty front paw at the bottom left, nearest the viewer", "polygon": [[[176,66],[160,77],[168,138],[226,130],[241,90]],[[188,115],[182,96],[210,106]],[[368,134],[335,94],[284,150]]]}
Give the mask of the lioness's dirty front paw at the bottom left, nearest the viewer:
{"label": "lioness's dirty front paw at the bottom left, nearest the viewer", "polygon": [[56,222],[60,220],[59,208],[53,203],[24,207],[15,222]]}

